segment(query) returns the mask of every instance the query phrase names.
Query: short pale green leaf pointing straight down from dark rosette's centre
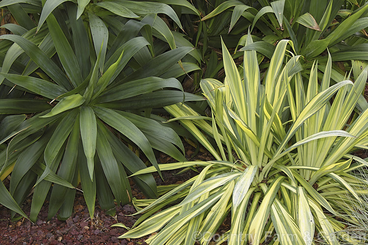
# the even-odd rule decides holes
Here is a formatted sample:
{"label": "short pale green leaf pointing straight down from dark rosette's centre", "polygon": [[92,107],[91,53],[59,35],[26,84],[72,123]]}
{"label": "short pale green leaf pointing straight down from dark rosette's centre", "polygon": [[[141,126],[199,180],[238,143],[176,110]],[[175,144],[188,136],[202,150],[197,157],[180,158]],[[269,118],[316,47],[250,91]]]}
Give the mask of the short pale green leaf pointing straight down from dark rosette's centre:
{"label": "short pale green leaf pointing straight down from dark rosette's centre", "polygon": [[83,142],[83,150],[87,159],[88,172],[93,180],[94,157],[96,152],[97,124],[96,116],[92,108],[82,106],[80,108],[80,135]]}

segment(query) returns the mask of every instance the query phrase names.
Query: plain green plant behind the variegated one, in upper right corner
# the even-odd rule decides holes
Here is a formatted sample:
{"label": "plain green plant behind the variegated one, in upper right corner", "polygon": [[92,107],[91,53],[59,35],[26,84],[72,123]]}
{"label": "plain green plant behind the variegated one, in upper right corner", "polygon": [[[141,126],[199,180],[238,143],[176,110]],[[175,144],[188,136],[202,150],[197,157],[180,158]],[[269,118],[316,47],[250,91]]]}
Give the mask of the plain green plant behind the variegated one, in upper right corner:
{"label": "plain green plant behind the variegated one, in upper right corner", "polygon": [[[224,1],[202,18],[213,26],[225,15],[225,28],[230,34],[247,33],[248,28],[256,40],[245,46],[246,35],[240,38],[240,50],[257,50],[263,57],[271,58],[274,44],[288,38],[297,55],[302,55],[303,76],[308,77],[313,61],[318,60],[318,76],[326,66],[327,48],[333,63],[331,78],[338,82],[341,74],[349,71],[354,60],[367,60],[367,9],[363,0],[229,0]],[[232,9],[233,11],[229,11]],[[229,17],[231,16],[231,17]],[[216,20],[211,21],[213,18]],[[337,62],[340,64],[338,65]],[[261,68],[267,67],[265,62]],[[362,111],[368,107],[363,96],[358,101]]]}

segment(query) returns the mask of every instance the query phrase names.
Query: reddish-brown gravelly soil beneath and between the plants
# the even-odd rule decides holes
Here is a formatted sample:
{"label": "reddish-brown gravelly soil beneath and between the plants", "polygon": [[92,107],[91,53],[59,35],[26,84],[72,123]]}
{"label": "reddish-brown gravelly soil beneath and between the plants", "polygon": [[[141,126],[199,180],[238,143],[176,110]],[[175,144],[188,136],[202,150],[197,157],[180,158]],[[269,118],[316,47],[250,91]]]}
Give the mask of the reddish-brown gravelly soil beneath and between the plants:
{"label": "reddish-brown gravelly soil beneath and between the plants", "polygon": [[[185,144],[186,157],[191,159],[195,149]],[[195,156],[197,160],[213,160],[210,153],[201,149]],[[176,162],[171,157],[160,154],[158,163]],[[179,170],[162,172],[165,182],[163,182],[158,174],[154,174],[157,185],[169,185],[175,183],[183,183],[185,180],[194,176],[196,173],[187,171],[176,175]],[[132,194],[138,199],[145,196],[140,192],[136,185],[131,181]],[[31,204],[31,196],[25,201],[22,209],[29,215]],[[66,221],[59,221],[56,216],[47,221],[47,213],[49,203],[46,201],[41,209],[38,220],[32,223],[26,219],[19,221],[10,221],[10,211],[0,205],[0,245],[80,245],[80,244],[111,244],[111,245],[145,245],[144,237],[142,239],[118,239],[117,237],[125,233],[127,230],[120,227],[110,227],[115,223],[123,223],[131,227],[139,216],[128,216],[136,211],[130,204],[124,206],[116,206],[116,216],[112,217],[106,214],[105,210],[101,210],[96,201],[94,219],[89,217],[88,209],[84,201],[83,194],[77,192],[74,201],[74,212]],[[229,222],[230,224],[230,222]],[[222,228],[226,230],[225,227]]]}

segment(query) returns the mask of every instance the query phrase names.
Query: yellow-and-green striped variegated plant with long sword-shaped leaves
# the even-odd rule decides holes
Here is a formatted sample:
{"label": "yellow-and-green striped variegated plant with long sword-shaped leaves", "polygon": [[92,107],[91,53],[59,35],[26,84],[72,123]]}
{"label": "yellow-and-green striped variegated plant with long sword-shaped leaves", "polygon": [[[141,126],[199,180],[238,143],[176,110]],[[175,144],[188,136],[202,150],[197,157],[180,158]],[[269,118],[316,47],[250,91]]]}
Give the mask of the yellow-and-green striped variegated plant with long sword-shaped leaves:
{"label": "yellow-and-green striped variegated plant with long sword-shaped leaves", "polygon": [[[180,104],[165,107],[216,161],[159,165],[161,171],[203,169],[183,184],[167,188],[156,200],[136,201],[137,214],[143,215],[120,238],[158,232],[146,242],[209,244],[231,212],[231,228],[215,237],[218,244],[311,245],[315,234],[331,245],[340,239],[354,242],[335,232],[344,226],[339,214],[361,200],[368,184],[352,174],[368,163],[357,157],[353,161],[349,155],[367,147],[368,110],[349,120],[365,87],[367,69],[354,83],[344,80],[331,86],[329,57],[320,84],[315,63],[306,88],[300,56],[285,54],[288,43],[294,49],[292,42],[281,40],[264,77],[256,51],[244,52],[239,73],[222,43],[224,82],[201,82],[212,114],[204,118]],[[246,45],[252,45],[250,35]],[[134,175],[153,171],[149,167]]]}

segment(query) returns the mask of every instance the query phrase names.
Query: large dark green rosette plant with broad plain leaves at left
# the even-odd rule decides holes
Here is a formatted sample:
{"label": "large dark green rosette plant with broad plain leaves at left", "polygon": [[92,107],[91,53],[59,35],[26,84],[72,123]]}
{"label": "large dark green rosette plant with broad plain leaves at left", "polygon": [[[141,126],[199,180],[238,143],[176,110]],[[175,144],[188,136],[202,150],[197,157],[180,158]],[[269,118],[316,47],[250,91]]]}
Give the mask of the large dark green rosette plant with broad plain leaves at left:
{"label": "large dark green rosette plant with broad plain leaves at left", "polygon": [[[199,68],[196,50],[176,44],[176,34],[157,17],[165,13],[180,26],[169,5],[96,1],[84,8],[83,2],[89,1],[0,2],[41,13],[37,27],[8,25],[16,34],[0,37],[0,203],[26,217],[19,205],[34,187],[31,221],[46,198],[48,218],[60,210],[59,219],[67,219],[79,182],[91,218],[96,195],[112,213],[116,203],[131,202],[127,173],[146,165],[127,145],[142,150],[158,171],[154,149],[185,160],[181,139],[150,119],[152,109],[203,99],[184,93],[174,78]],[[7,190],[2,181],[9,174]],[[146,196],[158,196],[151,174],[134,180]]]}

